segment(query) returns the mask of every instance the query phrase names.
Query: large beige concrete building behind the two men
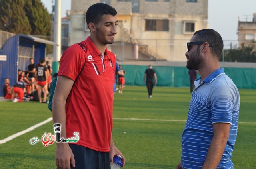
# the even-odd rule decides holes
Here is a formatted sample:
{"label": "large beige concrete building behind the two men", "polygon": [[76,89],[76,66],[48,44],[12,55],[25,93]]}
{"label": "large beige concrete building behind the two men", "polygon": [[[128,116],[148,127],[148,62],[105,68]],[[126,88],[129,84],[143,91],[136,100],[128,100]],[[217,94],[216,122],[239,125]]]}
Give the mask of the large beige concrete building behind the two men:
{"label": "large beige concrete building behind the two men", "polygon": [[122,61],[186,61],[186,42],[208,28],[208,0],[72,0],[70,45],[90,35],[85,14],[98,2],[118,12],[118,34],[108,49]]}

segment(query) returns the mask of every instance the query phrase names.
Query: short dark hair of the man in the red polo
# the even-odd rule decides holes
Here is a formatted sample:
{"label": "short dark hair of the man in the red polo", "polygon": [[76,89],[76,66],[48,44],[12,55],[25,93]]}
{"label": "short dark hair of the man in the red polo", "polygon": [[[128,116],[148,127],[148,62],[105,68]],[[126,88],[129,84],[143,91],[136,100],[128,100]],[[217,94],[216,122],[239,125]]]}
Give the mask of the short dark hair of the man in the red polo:
{"label": "short dark hair of the man in the red polo", "polygon": [[116,9],[110,5],[104,3],[97,3],[90,6],[86,12],[86,23],[87,26],[90,22],[94,24],[98,24],[103,15],[112,15],[116,16],[117,12]]}

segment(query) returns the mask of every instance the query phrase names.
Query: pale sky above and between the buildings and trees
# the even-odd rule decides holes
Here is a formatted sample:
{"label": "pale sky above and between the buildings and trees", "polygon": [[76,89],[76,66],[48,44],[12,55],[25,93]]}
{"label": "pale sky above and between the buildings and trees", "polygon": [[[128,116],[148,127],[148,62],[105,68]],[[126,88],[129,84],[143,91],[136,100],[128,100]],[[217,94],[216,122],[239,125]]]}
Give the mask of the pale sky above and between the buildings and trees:
{"label": "pale sky above and between the buildings and trees", "polygon": [[[54,0],[41,0],[48,12],[52,12]],[[52,3],[53,2],[53,3]],[[61,16],[66,16],[66,10],[71,10],[71,0],[61,0]],[[240,21],[252,21],[253,13],[256,13],[256,0],[208,0],[208,24],[209,28],[220,33],[224,41],[224,48],[230,47],[230,43],[236,45],[238,35],[238,17]]]}

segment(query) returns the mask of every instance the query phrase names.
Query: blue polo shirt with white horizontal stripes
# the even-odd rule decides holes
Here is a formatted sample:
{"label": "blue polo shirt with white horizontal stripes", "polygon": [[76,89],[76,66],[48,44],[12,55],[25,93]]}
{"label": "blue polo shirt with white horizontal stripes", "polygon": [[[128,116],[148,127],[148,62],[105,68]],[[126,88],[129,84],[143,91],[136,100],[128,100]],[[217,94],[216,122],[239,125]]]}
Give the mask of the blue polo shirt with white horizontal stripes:
{"label": "blue polo shirt with white horizontal stripes", "polygon": [[218,69],[204,81],[194,82],[196,88],[182,134],[181,162],[183,169],[201,169],[213,138],[213,123],[230,123],[230,133],[217,168],[234,168],[231,161],[236,141],[240,97],[233,81]]}

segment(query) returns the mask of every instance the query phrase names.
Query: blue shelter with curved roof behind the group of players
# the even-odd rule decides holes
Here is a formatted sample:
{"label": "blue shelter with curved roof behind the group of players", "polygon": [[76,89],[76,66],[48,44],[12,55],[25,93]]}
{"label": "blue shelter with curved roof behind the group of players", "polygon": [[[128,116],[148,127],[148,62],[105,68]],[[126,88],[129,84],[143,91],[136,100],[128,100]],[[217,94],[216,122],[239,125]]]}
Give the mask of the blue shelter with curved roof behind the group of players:
{"label": "blue shelter with curved roof behind the group of players", "polygon": [[34,58],[35,64],[40,58],[45,59],[46,44],[56,45],[52,41],[24,34],[12,36],[4,42],[0,49],[0,55],[6,55],[6,61],[0,61],[0,96],[3,96],[4,78],[10,79],[12,86],[18,80],[18,69],[26,71],[30,58]]}

